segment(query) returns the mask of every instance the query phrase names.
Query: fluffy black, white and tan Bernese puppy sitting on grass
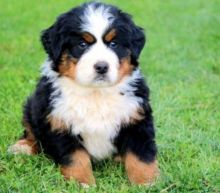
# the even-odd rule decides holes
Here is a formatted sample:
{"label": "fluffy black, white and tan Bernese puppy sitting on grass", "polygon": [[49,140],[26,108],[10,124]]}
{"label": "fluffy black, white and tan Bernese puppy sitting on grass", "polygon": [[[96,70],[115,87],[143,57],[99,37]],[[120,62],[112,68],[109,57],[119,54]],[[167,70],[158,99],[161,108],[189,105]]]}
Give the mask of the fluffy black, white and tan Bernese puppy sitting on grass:
{"label": "fluffy black, white and tan Bernese puppy sitting on grass", "polygon": [[149,89],[138,67],[143,29],[115,6],[89,2],[44,30],[48,59],[24,105],[12,153],[43,151],[66,179],[94,184],[91,160],[116,156],[133,184],[158,175]]}

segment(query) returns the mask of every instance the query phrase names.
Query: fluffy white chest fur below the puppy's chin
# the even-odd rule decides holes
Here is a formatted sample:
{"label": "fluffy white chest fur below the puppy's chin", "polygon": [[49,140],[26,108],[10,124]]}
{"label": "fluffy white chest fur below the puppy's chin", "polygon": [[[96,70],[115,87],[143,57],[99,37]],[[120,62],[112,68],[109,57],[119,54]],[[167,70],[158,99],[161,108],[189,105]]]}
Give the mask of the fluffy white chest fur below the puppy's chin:
{"label": "fluffy white chest fur below the puppy's chin", "polygon": [[63,120],[72,134],[80,134],[83,146],[96,159],[116,151],[112,141],[121,124],[128,123],[139,108],[141,99],[133,95],[129,80],[103,89],[82,88],[67,78],[54,83],[60,95],[53,100],[51,114]]}

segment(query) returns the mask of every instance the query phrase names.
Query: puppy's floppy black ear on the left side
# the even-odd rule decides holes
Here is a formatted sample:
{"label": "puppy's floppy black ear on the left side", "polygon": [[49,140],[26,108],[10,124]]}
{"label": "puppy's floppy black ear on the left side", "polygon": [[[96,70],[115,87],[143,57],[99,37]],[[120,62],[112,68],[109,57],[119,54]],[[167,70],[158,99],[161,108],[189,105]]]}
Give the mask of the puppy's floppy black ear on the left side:
{"label": "puppy's floppy black ear on the left side", "polygon": [[63,42],[55,26],[51,26],[42,32],[41,42],[49,58],[56,65],[62,53]]}

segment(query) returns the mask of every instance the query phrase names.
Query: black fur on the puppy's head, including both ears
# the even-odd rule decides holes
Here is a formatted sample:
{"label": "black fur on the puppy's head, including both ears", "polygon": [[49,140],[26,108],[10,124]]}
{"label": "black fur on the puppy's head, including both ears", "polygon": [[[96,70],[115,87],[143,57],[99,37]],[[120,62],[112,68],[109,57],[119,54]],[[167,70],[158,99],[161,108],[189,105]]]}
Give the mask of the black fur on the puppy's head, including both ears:
{"label": "black fur on the puppy's head, including both ears", "polygon": [[[103,3],[94,4],[96,7],[105,5],[106,8],[110,8],[111,14],[117,18],[111,26],[117,30],[117,37],[114,41],[118,43],[118,47],[114,51],[119,59],[128,56],[131,52],[132,64],[137,66],[137,59],[145,45],[143,29],[134,24],[130,15],[118,8]],[[58,70],[63,52],[67,51],[72,57],[80,58],[86,51],[80,50],[78,45],[82,34],[80,16],[83,15],[83,11],[88,5],[89,3],[83,4],[62,14],[54,25],[42,32],[41,41],[49,58],[54,62],[54,70]]]}

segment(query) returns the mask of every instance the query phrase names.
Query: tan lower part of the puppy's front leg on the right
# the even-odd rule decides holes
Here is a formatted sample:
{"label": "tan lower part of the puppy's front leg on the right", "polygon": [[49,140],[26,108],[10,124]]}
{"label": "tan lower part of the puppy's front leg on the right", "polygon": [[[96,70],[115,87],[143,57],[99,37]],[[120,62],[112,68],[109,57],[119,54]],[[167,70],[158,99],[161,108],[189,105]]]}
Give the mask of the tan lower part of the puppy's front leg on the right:
{"label": "tan lower part of the puppy's front leg on the right", "polygon": [[131,152],[125,155],[125,169],[130,182],[133,184],[150,185],[159,175],[157,161],[145,163]]}

